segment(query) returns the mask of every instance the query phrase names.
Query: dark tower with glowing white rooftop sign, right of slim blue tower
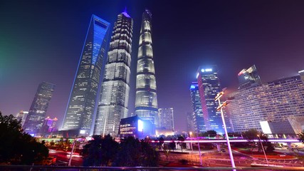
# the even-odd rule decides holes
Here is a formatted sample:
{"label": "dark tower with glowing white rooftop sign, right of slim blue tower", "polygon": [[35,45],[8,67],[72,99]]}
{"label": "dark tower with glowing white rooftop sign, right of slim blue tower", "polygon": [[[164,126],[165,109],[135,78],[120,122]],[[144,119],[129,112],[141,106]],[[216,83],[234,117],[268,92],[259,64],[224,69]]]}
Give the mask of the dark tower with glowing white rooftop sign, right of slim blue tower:
{"label": "dark tower with glowing white rooftop sign, right of slim blue tower", "polygon": [[[224,134],[221,112],[216,110],[219,103],[214,100],[217,93],[221,92],[221,84],[219,82],[217,67],[200,66],[197,71],[197,82],[206,130],[215,130],[219,134]],[[226,111],[224,110],[223,112],[227,130],[228,132],[231,132],[231,122],[229,121]]]}

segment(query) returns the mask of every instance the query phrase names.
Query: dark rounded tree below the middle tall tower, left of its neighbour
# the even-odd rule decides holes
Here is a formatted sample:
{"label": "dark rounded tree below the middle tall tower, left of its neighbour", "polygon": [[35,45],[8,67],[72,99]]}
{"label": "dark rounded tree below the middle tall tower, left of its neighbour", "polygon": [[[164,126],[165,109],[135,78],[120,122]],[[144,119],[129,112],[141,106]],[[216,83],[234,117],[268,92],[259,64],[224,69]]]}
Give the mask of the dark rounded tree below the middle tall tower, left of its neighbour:
{"label": "dark rounded tree below the middle tall tower, left of its neighbour", "polygon": [[102,138],[100,135],[93,135],[83,147],[84,166],[110,166],[115,160],[119,144],[110,135]]}

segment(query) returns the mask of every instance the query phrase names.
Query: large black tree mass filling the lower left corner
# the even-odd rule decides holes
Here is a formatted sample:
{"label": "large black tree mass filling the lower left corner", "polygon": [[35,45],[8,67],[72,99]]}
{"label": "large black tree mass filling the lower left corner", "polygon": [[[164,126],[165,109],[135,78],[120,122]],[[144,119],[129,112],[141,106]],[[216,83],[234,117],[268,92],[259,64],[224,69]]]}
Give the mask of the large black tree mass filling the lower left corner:
{"label": "large black tree mass filling the lower left corner", "polygon": [[0,112],[0,163],[31,165],[48,157],[48,148],[23,132],[21,120]]}

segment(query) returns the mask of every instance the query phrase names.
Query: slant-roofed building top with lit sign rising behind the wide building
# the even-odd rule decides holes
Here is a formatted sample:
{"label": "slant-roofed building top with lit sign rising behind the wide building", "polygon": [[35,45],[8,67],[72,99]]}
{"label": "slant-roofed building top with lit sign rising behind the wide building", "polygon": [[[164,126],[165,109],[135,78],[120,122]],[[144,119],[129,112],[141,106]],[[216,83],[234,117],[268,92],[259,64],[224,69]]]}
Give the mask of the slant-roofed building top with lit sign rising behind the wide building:
{"label": "slant-roofed building top with lit sign rising behind the wide building", "polygon": [[239,72],[238,75],[239,89],[248,88],[251,86],[260,86],[262,83],[255,65],[251,66],[248,69],[243,69]]}

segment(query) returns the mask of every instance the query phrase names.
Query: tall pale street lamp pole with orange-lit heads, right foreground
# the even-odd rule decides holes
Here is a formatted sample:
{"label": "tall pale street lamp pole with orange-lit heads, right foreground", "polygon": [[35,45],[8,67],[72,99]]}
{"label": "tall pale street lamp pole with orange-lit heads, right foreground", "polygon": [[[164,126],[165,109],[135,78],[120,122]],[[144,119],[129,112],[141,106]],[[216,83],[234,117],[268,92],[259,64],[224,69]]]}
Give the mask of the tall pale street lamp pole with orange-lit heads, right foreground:
{"label": "tall pale street lamp pole with orange-lit heads, right foreground", "polygon": [[[224,130],[225,130],[225,135],[226,135],[226,140],[227,140],[227,146],[228,146],[228,151],[229,151],[229,156],[230,156],[230,160],[231,160],[231,166],[232,167],[236,167],[236,165],[234,164],[234,155],[232,155],[232,150],[231,150],[231,146],[230,146],[230,142],[229,142],[229,136],[227,133],[227,128],[226,128],[226,123],[225,123],[225,118],[224,118],[224,114],[223,114],[223,109],[228,103],[227,101],[225,101],[223,104],[221,104],[221,96],[224,95],[224,91],[226,90],[226,88],[224,88],[220,93],[217,93],[216,97],[214,98],[214,100],[219,101],[219,107],[216,108],[217,111],[221,110],[221,120],[223,120],[223,125],[224,125]],[[236,171],[236,169],[233,169],[234,171]]]}

